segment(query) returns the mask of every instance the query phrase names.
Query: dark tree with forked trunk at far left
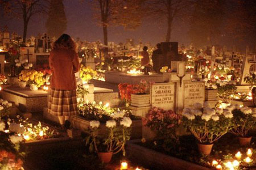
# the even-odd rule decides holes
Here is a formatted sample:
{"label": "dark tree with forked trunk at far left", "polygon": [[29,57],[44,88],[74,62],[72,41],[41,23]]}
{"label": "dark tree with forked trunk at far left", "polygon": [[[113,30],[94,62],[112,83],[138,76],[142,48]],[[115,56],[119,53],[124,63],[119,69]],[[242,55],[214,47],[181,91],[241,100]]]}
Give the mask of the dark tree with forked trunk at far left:
{"label": "dark tree with forked trunk at far left", "polygon": [[47,12],[48,0],[0,0],[5,14],[23,19],[23,43],[26,43],[28,22],[32,16]]}

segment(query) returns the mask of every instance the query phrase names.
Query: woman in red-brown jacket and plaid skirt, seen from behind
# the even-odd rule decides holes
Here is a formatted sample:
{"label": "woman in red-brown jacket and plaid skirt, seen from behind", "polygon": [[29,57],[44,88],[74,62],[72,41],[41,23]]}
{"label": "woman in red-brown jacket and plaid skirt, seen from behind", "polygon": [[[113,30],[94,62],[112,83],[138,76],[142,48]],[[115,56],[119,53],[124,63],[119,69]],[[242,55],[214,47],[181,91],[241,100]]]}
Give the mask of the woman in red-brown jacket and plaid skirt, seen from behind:
{"label": "woman in red-brown jacket and plaid skirt, seen from behind", "polygon": [[58,116],[63,130],[64,124],[70,124],[69,117],[77,114],[75,73],[79,71],[80,63],[76,48],[71,37],[63,34],[53,43],[49,56],[52,78],[48,113]]}

